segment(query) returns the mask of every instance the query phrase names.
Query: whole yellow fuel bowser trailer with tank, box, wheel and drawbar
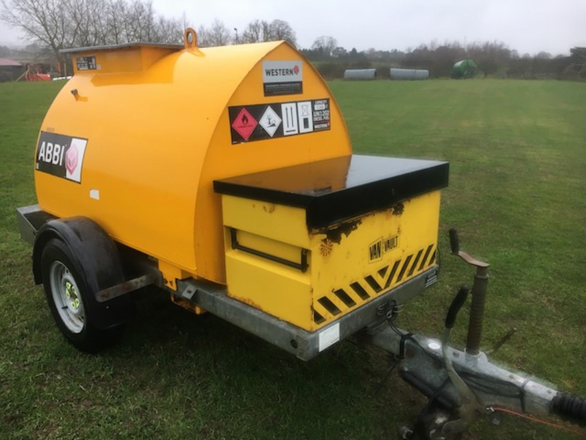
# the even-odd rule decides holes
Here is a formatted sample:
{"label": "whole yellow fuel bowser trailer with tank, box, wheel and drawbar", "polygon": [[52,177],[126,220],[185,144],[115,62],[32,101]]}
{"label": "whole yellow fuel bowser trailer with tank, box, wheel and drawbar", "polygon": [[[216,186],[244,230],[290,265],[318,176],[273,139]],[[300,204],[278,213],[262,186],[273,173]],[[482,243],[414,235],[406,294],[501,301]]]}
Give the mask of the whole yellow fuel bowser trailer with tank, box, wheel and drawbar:
{"label": "whole yellow fuel bowser trailer with tank, box, wheel and drawbar", "polygon": [[[500,402],[453,378],[497,368],[478,351],[482,313],[466,353],[480,367],[446,360],[438,372],[441,344],[393,324],[437,280],[448,163],[353,155],[331,91],[287,42],[199,49],[188,29],[182,46],[63,52],[74,76],[40,128],[38,205],[18,218],[70,343],[112,343],[132,316],[127,293],[156,285],[304,360],[362,334],[397,354],[403,377],[441,402],[434,411],[449,411],[447,434]],[[458,255],[480,271],[473,302],[483,306],[488,265]],[[550,412],[557,392],[528,384],[506,404]]]}

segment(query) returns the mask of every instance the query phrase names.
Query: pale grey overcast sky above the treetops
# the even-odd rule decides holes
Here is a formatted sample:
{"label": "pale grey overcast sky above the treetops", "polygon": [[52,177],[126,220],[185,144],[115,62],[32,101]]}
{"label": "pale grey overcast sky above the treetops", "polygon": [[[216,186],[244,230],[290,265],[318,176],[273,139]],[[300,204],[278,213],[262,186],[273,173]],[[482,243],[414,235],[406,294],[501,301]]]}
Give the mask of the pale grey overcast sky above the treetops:
{"label": "pale grey overcast sky above the treetops", "polygon": [[[214,18],[241,32],[251,20],[288,21],[298,45],[330,35],[357,50],[406,49],[436,40],[501,40],[520,54],[568,53],[586,46],[586,0],[153,0],[156,11],[185,15],[197,28]],[[0,23],[0,43],[18,33]],[[22,43],[22,40],[21,40]],[[25,42],[26,43],[26,42]]]}

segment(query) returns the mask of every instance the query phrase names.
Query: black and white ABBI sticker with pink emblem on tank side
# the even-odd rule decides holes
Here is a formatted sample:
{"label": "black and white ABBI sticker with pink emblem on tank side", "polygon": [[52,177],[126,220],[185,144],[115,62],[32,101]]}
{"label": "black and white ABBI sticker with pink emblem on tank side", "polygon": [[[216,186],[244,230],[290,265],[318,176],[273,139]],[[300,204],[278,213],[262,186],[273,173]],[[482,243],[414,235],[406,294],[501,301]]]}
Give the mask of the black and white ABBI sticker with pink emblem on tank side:
{"label": "black and white ABBI sticker with pink emblem on tank side", "polygon": [[36,169],[81,183],[87,139],[41,131],[36,151]]}

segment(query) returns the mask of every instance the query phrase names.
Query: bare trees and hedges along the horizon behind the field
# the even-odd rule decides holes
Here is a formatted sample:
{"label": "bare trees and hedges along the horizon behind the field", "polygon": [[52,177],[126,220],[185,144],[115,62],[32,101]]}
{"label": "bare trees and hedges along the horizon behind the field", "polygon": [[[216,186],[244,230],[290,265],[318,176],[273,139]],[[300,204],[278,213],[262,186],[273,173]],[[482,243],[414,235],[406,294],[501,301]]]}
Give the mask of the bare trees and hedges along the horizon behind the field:
{"label": "bare trees and hedges along the horizon behind the field", "polygon": [[[128,42],[181,44],[189,26],[185,16],[166,18],[156,13],[148,0],[0,0],[0,19],[18,28],[40,52],[52,53],[62,61],[61,49]],[[295,31],[288,22],[253,20],[243,29],[229,28],[216,19],[200,25],[200,47],[223,46],[287,40],[297,46]],[[0,48],[6,52],[6,48]],[[388,67],[429,69],[430,76],[449,76],[458,60],[471,58],[484,75],[536,77],[554,75],[563,70],[567,59],[540,52],[520,55],[502,42],[432,42],[408,50],[347,50],[332,36],[319,36],[310,48],[301,52],[316,62],[322,75],[339,77],[352,67],[380,67],[388,76]]]}

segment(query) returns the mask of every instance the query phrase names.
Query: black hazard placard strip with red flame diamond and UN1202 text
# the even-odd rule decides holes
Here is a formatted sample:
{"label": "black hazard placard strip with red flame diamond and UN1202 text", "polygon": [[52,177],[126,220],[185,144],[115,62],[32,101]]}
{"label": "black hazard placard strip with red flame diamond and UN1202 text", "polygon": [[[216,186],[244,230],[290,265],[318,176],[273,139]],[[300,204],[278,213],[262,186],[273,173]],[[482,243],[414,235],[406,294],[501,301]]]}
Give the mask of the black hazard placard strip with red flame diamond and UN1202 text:
{"label": "black hazard placard strip with red flame diamond and UN1202 text", "polygon": [[228,108],[233,144],[329,130],[329,99]]}

